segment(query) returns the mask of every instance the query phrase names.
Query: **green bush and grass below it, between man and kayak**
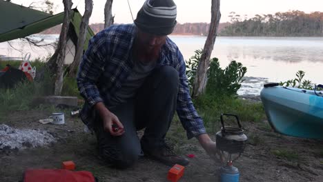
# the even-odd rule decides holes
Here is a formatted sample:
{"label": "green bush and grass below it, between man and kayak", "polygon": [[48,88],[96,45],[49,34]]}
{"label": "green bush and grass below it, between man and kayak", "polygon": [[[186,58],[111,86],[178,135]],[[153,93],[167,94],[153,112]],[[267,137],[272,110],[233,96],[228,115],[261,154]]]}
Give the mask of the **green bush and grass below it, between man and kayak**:
{"label": "green bush and grass below it, between man and kayak", "polygon": [[[201,54],[202,50],[196,50],[195,55],[186,61],[186,76],[190,89],[194,83]],[[193,100],[208,132],[216,132],[219,128],[221,113],[237,114],[242,121],[251,122],[259,122],[266,117],[262,103],[237,99],[237,90],[244,81],[244,74],[246,67],[242,66],[242,63],[231,61],[225,69],[222,69],[217,58],[211,59],[206,92]]]}

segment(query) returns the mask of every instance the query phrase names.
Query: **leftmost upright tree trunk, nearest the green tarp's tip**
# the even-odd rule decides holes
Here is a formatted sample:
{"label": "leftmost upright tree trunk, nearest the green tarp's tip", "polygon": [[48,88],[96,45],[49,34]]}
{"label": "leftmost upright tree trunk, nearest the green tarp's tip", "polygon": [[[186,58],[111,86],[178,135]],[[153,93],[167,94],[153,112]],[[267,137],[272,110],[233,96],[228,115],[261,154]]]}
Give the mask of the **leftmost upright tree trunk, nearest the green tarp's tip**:
{"label": "leftmost upright tree trunk, nearest the green tarp's tip", "polygon": [[65,60],[65,50],[66,50],[66,41],[68,27],[70,26],[70,8],[72,8],[71,0],[63,0],[64,4],[64,19],[63,25],[61,26],[61,34],[59,34],[59,44],[57,45],[57,60],[56,60],[56,69],[55,70],[55,90],[54,94],[61,94],[63,89],[63,66]]}

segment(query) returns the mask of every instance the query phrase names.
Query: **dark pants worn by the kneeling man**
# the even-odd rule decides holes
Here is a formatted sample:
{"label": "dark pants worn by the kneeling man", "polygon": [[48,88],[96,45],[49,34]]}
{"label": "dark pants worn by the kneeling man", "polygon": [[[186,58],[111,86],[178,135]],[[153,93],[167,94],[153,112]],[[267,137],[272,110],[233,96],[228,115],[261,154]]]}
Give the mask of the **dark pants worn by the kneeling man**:
{"label": "dark pants worn by the kneeling man", "polygon": [[[108,108],[124,125],[121,136],[105,132],[97,117],[94,129],[100,156],[117,168],[127,168],[137,161],[142,150],[161,148],[175,114],[178,84],[177,70],[162,66],[147,77],[133,101]],[[146,130],[139,140],[137,130],[143,128]]]}

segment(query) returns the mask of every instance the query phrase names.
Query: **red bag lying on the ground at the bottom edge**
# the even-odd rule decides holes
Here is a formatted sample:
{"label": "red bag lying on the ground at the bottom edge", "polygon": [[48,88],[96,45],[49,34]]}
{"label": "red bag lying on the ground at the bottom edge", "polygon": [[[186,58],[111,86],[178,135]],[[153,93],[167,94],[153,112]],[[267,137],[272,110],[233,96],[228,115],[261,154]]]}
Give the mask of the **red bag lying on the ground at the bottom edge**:
{"label": "red bag lying on the ground at the bottom edge", "polygon": [[70,170],[26,170],[23,182],[95,182],[88,171]]}

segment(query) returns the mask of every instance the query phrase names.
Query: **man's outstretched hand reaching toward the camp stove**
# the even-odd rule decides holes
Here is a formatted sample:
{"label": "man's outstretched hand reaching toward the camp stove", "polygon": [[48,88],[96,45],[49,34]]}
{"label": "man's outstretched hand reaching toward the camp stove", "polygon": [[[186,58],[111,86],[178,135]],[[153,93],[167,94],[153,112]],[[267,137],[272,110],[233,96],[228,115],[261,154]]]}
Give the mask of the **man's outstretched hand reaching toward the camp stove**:
{"label": "man's outstretched hand reaching toward the camp stove", "polygon": [[217,154],[219,150],[217,150],[217,145],[214,141],[211,140],[208,134],[200,134],[197,136],[199,143],[202,145],[202,148],[206,151],[206,153],[215,161],[219,161],[217,159]]}

